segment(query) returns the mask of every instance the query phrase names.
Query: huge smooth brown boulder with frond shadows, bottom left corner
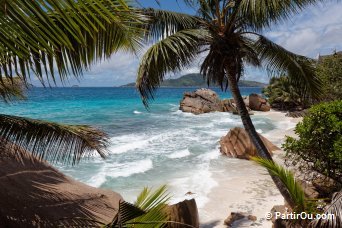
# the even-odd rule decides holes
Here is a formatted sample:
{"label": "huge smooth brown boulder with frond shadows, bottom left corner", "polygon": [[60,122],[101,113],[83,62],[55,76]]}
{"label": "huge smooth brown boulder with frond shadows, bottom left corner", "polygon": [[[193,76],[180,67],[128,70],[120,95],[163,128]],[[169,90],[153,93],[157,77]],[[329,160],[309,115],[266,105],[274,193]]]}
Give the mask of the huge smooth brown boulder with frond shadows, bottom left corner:
{"label": "huge smooth brown boulder with frond shadows, bottom left corner", "polygon": [[8,142],[0,145],[1,227],[97,227],[95,221],[115,217],[118,193],[65,176]]}

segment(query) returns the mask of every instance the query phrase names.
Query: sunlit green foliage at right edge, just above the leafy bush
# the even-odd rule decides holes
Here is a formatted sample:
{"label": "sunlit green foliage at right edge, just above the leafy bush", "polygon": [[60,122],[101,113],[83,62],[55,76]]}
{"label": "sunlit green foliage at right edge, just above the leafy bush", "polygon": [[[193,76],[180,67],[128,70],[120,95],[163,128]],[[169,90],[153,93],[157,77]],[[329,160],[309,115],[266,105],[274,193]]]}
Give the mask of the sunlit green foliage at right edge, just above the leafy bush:
{"label": "sunlit green foliage at right edge, just above the leafy bush", "polygon": [[342,99],[342,53],[320,57],[317,75],[323,80],[324,99]]}

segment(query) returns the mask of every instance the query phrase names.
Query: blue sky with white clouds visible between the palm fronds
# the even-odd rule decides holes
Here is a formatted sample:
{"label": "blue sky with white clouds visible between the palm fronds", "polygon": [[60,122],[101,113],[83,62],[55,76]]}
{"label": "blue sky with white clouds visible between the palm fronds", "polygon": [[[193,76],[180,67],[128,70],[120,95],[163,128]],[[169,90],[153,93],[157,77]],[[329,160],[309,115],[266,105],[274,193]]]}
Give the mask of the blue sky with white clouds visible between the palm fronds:
{"label": "blue sky with white clouds visible between the palm fronds", "polygon": [[[140,0],[143,7],[161,8],[171,11],[193,14],[182,0]],[[330,0],[305,8],[284,23],[272,26],[264,35],[277,44],[294,53],[317,58],[318,54],[331,54],[342,51],[342,1]],[[71,78],[65,86],[112,87],[134,82],[141,56],[118,52],[109,60],[94,65],[85,72],[79,81]],[[203,57],[202,57],[203,58]],[[177,78],[187,73],[198,73],[201,58],[177,74],[168,77]],[[265,71],[247,68],[245,80],[268,82]],[[39,85],[37,80],[32,84]]]}

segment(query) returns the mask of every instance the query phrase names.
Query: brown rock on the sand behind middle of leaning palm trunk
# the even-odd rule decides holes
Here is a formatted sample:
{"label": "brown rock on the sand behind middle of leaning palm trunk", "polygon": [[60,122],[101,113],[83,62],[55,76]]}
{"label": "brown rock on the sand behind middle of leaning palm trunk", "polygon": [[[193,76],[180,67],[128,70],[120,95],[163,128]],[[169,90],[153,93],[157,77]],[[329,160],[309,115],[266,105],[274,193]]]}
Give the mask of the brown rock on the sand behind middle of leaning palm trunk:
{"label": "brown rock on the sand behind middle of leaning palm trunk", "polygon": [[[268,139],[259,134],[266,148],[272,154],[272,151],[279,150],[277,146]],[[250,156],[256,156],[257,150],[250,140],[247,132],[243,128],[233,128],[226,136],[220,140],[220,152],[228,157],[249,159]]]}

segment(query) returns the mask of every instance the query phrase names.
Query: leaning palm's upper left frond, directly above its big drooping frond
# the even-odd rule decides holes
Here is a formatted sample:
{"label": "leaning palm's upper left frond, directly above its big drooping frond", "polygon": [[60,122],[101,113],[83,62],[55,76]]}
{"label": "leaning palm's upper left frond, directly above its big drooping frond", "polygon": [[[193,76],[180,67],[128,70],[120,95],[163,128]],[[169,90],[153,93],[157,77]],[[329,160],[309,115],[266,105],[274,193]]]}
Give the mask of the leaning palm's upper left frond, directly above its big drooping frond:
{"label": "leaning palm's upper left frond, directly above its big drooping frond", "polygon": [[144,9],[141,12],[147,16],[147,41],[159,41],[184,29],[198,29],[199,18],[188,14],[167,10]]}

